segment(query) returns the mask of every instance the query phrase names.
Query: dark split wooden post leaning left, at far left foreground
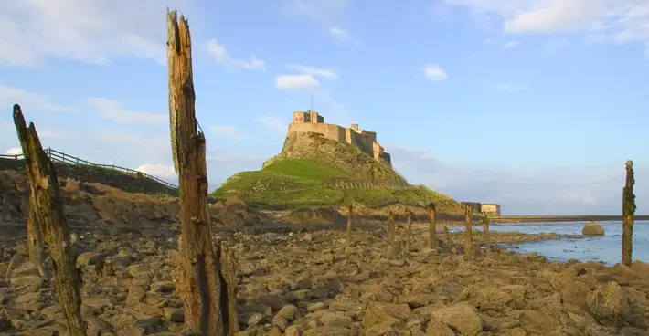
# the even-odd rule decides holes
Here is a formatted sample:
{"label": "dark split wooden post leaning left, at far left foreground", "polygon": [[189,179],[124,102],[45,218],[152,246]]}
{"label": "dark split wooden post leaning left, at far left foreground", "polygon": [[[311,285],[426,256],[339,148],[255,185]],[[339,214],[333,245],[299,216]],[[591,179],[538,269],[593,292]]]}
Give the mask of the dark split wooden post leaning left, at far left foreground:
{"label": "dark split wooden post leaning left, at far left foreground", "polygon": [[23,112],[17,104],[14,105],[14,124],[27,166],[30,216],[33,215],[32,234],[40,231],[48,245],[54,269],[54,286],[66,317],[68,334],[85,336],[86,326],[81,320],[80,275],[76,260],[69,250],[68,223],[59,198],[57,172],[43,151],[34,123],[30,122],[27,128]]}

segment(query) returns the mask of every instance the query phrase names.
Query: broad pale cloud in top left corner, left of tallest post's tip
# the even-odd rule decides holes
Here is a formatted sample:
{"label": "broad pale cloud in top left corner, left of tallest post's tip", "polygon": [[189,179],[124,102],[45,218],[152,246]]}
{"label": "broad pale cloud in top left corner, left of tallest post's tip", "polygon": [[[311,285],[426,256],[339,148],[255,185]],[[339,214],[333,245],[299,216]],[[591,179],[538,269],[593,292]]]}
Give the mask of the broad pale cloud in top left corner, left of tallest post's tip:
{"label": "broad pale cloud in top left corner, left of tallest post's tip", "polygon": [[116,56],[165,63],[167,6],[193,15],[193,0],[3,0],[0,63],[33,67],[45,58],[110,64]]}

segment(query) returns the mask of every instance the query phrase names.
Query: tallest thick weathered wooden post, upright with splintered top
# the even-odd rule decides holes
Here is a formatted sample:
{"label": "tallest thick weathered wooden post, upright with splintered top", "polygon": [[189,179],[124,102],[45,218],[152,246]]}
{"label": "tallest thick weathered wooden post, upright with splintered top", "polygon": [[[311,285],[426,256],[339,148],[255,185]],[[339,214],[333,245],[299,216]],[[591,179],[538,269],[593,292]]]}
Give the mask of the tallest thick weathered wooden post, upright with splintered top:
{"label": "tallest thick weathered wooden post, upright with splintered top", "polygon": [[[174,167],[178,174],[181,272],[179,291],[188,333],[225,335],[228,317],[227,284],[222,280],[220,255],[212,242],[207,215],[207,162],[203,131],[196,119],[192,46],[189,26],[176,11],[166,16],[169,79],[169,124]],[[225,304],[225,303],[224,303]],[[227,305],[226,305],[227,306]]]}

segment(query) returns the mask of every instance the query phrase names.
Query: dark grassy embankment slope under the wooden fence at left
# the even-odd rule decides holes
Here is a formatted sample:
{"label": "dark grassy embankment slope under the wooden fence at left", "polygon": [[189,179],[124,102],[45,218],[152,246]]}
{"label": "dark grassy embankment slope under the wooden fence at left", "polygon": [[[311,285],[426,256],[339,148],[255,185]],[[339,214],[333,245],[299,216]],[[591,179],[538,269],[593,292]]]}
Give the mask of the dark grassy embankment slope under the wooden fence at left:
{"label": "dark grassy embankment slope under the wooden fence at left", "polygon": [[[178,191],[161,184],[144,175],[137,176],[112,169],[104,169],[82,164],[54,163],[57,176],[61,179],[76,180],[84,183],[110,185],[125,192],[141,194],[161,194],[177,196]],[[0,171],[11,170],[25,173],[25,161],[0,158]]]}

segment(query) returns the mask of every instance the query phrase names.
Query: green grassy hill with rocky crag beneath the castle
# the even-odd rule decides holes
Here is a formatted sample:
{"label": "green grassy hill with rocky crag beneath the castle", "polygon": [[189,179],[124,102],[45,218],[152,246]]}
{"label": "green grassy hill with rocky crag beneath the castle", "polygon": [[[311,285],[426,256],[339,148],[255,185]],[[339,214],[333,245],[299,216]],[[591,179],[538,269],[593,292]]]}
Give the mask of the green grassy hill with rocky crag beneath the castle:
{"label": "green grassy hill with rocky crag beneath the castle", "polygon": [[341,190],[335,187],[337,181],[405,183],[399,174],[354,146],[314,134],[297,134],[289,136],[282,153],[264,163],[260,171],[237,173],[212,195],[218,199],[238,196],[266,208],[347,205],[352,201],[367,207],[434,202],[442,212],[461,211],[452,198],[425,186]]}

